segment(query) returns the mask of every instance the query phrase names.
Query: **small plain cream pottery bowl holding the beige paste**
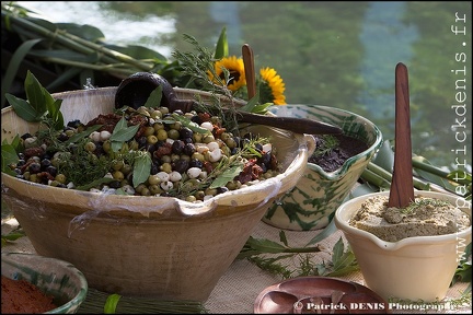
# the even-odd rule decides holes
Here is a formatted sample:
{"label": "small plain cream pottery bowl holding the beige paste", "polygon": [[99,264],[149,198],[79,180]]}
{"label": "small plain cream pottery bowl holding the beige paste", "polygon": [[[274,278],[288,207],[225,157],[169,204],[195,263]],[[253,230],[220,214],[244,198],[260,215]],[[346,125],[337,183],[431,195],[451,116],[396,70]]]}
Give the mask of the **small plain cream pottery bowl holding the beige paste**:
{"label": "small plain cream pottery bowl holding the beige paste", "polygon": [[[336,210],[334,218],[356,256],[366,285],[387,300],[442,300],[465,246],[471,242],[471,223],[468,229],[453,234],[385,242],[348,224],[360,205],[377,195],[389,196],[389,191],[350,199]],[[471,203],[460,197],[425,190],[415,191],[415,195],[458,205],[470,215],[471,222]]]}

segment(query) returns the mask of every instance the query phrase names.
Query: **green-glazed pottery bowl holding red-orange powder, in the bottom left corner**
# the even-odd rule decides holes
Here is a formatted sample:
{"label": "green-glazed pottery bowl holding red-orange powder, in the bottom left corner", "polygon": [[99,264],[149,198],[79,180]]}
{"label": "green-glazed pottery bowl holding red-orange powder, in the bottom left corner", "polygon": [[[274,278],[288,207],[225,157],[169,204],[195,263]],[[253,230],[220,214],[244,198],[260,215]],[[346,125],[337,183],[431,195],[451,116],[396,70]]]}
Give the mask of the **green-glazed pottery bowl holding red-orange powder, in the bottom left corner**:
{"label": "green-glazed pottery bowl holding red-orange powder, in the bottom left corner", "polygon": [[53,295],[58,306],[46,314],[74,314],[85,300],[84,275],[68,261],[34,254],[2,253],[1,273],[13,280],[26,280],[43,293]]}

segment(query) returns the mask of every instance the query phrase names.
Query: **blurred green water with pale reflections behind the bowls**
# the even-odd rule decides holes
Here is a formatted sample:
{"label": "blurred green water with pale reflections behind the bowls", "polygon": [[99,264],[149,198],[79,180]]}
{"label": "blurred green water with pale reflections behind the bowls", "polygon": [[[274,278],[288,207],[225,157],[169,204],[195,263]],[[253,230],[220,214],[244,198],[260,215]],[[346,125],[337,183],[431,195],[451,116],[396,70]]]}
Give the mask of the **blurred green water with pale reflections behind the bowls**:
{"label": "blurred green water with pale reflections behind the bowls", "polygon": [[[394,69],[403,62],[414,153],[449,168],[465,167],[458,163],[466,161],[471,172],[470,1],[78,3],[32,4],[54,22],[89,23],[108,34],[107,40],[140,44],[170,58],[174,49],[192,49],[182,34],[212,47],[226,26],[230,55],[240,56],[249,43],[255,69],[273,67],[284,79],[287,103],[348,109],[373,121],[388,140],[394,137]],[[455,100],[459,92],[462,102]],[[464,105],[466,114],[453,105]]]}

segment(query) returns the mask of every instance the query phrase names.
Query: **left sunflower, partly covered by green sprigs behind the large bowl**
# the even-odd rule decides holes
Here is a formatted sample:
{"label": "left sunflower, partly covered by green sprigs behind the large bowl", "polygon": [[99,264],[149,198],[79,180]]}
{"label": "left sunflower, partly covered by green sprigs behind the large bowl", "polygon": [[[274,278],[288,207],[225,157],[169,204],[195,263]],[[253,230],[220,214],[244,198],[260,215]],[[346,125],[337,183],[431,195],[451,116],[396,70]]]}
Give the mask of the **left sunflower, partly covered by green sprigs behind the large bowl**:
{"label": "left sunflower, partly covered by green sprigs behind the large bowl", "polygon": [[[235,56],[223,57],[215,63],[216,74],[224,80],[224,73],[222,68],[227,69],[230,73],[229,82],[227,83],[227,88],[235,92],[240,88],[246,85],[246,78],[244,72],[244,63],[242,58],[236,58]],[[220,83],[221,81],[214,78],[214,74],[209,73],[210,80],[216,83]]]}

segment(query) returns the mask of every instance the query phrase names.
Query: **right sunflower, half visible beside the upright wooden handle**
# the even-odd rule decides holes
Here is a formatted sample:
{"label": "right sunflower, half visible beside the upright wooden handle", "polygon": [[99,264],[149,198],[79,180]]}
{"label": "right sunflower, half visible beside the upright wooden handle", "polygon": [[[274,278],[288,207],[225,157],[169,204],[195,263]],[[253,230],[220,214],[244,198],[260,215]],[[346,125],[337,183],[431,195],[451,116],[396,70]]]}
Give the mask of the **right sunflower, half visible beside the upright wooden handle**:
{"label": "right sunflower, half visible beside the upright wooden handle", "polygon": [[269,67],[259,70],[259,98],[262,103],[286,105],[285,83],[276,70]]}

